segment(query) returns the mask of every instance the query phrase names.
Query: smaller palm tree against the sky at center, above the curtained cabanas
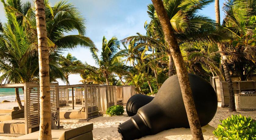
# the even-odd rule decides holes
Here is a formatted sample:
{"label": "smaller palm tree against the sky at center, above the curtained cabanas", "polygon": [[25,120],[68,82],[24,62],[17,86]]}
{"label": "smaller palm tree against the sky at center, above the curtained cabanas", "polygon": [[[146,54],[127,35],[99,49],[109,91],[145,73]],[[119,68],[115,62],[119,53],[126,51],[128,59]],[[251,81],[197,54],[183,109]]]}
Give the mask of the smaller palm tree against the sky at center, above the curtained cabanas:
{"label": "smaller palm tree against the sky at center, above the curtained cabanas", "polygon": [[99,66],[99,71],[104,75],[107,85],[110,84],[109,78],[113,73],[125,72],[122,69],[122,65],[120,65],[121,57],[118,53],[119,48],[120,43],[116,37],[112,37],[110,40],[103,37],[100,57],[95,50],[91,50],[93,59]]}

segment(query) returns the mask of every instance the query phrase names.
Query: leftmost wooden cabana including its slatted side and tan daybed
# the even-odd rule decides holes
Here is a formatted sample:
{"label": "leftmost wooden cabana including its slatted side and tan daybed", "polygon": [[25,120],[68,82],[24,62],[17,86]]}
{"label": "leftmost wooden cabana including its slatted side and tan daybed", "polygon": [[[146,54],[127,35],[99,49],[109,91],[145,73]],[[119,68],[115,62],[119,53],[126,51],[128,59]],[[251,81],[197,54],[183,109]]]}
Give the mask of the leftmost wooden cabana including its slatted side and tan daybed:
{"label": "leftmost wooden cabana including its slatted side and tan daybed", "polygon": [[[53,121],[59,126],[59,84],[50,84],[51,112]],[[40,87],[39,83],[3,84],[0,88],[24,89],[24,118],[0,122],[1,133],[28,134],[39,130]]]}

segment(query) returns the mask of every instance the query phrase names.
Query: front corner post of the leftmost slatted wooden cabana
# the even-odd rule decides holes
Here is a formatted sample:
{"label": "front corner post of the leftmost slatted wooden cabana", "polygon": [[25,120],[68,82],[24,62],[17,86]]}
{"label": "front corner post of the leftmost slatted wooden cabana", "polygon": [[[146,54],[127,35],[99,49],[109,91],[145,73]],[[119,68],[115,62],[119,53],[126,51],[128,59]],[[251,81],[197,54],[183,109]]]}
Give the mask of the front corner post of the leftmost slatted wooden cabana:
{"label": "front corner post of the leftmost slatted wooden cabana", "polygon": [[[29,133],[28,128],[28,96],[27,96],[27,84],[24,83],[24,118],[25,118],[25,134]],[[39,114],[38,114],[39,115]]]}

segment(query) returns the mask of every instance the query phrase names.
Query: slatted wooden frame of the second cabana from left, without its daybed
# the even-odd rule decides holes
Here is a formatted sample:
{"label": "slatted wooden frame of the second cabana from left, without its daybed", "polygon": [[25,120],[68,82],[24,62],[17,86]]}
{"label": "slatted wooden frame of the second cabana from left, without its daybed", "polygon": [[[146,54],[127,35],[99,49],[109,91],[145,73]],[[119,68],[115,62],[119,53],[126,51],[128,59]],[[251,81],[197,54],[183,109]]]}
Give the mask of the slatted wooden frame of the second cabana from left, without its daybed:
{"label": "slatted wooden frame of the second cabana from left, without its daybed", "polygon": [[[78,97],[75,100],[84,102],[83,107],[85,108],[85,117],[89,118],[96,116],[100,111],[100,91],[99,84],[77,84],[77,85],[67,85],[59,86],[60,89],[75,89],[75,95]],[[83,91],[84,90],[84,98]],[[81,100],[79,100],[81,99]]]}

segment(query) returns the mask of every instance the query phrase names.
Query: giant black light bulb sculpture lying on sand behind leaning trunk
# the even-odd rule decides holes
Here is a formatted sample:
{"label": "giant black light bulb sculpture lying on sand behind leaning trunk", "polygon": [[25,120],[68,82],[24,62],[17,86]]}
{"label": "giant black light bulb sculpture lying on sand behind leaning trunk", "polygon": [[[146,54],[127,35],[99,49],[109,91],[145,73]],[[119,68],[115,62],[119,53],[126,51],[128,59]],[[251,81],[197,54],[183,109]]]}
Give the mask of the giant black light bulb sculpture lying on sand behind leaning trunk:
{"label": "giant black light bulb sculpture lying on sand behind leaning trunk", "polygon": [[[188,74],[201,126],[208,124],[217,111],[217,96],[209,82]],[[171,128],[189,128],[177,75],[169,77],[155,98],[118,127],[123,140],[154,135]]]}

